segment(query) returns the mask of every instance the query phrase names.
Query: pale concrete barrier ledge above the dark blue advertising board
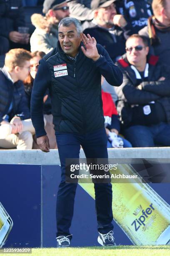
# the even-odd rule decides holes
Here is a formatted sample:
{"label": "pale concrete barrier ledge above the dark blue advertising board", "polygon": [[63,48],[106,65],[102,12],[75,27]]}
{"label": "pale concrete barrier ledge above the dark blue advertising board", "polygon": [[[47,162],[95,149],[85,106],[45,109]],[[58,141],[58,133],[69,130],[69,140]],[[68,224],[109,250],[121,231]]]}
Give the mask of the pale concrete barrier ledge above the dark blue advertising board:
{"label": "pale concrete barrier ledge above the dark blue advertising board", "polygon": [[[111,148],[108,149],[109,158],[170,158],[170,147],[155,148]],[[85,158],[80,150],[80,158]],[[0,164],[60,164],[57,149],[49,153],[40,150],[0,150]]]}

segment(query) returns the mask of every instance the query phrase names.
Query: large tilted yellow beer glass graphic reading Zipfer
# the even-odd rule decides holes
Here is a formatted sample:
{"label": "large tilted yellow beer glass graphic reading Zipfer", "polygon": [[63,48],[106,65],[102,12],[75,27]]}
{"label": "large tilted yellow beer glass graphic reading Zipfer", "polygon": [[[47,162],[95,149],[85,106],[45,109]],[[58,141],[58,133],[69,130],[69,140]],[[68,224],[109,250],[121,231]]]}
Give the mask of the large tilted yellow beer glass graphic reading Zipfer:
{"label": "large tilted yellow beer glass graphic reading Zipfer", "polygon": [[[170,205],[160,197],[129,164],[110,170],[112,211],[115,222],[134,245],[170,244]],[[123,176],[121,183],[113,177]],[[135,179],[128,178],[134,177]],[[123,182],[123,183],[122,183]],[[94,184],[80,183],[93,198]]]}

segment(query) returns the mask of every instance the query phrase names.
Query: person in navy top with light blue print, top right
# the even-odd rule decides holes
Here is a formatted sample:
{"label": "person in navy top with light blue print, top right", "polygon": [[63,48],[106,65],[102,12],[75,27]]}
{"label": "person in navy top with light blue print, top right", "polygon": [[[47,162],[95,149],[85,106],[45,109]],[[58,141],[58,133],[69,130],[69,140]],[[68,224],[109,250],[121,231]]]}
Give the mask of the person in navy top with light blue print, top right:
{"label": "person in navy top with light blue print, top right", "polygon": [[113,22],[126,32],[128,38],[147,26],[153,12],[148,0],[124,0],[120,4],[121,13],[115,15]]}

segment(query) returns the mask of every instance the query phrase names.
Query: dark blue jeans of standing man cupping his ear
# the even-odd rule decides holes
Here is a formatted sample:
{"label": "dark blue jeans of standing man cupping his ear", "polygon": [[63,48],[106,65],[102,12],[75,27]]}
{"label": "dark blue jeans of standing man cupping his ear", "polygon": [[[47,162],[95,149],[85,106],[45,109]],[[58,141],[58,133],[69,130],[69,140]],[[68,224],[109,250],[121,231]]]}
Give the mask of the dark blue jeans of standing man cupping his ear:
{"label": "dark blue jeans of standing man cupping his ear", "polygon": [[[80,145],[86,158],[108,158],[105,128],[91,133],[55,133],[61,162],[61,182],[57,193],[57,236],[70,235],[77,183],[65,182],[65,159],[79,159]],[[95,183],[97,229],[100,233],[112,230],[112,185]]]}

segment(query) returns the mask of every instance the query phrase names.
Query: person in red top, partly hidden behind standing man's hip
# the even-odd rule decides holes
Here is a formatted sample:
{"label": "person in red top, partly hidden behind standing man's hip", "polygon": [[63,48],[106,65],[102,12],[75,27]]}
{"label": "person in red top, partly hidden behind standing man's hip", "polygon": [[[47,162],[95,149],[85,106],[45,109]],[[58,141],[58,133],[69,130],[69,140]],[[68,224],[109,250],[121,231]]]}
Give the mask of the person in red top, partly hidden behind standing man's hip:
{"label": "person in red top, partly hidden behind standing man's hip", "polygon": [[103,92],[103,90],[102,103],[107,134],[107,148],[131,148],[131,143],[118,135],[120,131],[120,120],[117,115],[117,110],[110,93]]}

